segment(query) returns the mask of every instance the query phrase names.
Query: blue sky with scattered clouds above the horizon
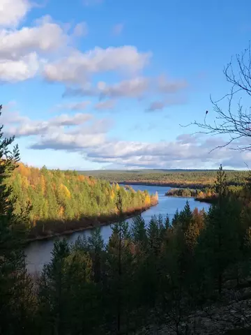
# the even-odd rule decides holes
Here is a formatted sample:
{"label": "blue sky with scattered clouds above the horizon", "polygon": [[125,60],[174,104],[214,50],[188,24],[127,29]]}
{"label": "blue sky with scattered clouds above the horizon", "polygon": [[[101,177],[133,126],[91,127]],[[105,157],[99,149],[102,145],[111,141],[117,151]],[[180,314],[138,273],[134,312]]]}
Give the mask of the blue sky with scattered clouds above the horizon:
{"label": "blue sky with scattered clouds above the horizon", "polygon": [[[4,135],[36,167],[245,169],[198,134],[251,35],[249,0],[0,0]],[[245,100],[244,100],[245,101]],[[245,101],[248,106],[249,101]],[[223,105],[223,107],[225,107]]]}

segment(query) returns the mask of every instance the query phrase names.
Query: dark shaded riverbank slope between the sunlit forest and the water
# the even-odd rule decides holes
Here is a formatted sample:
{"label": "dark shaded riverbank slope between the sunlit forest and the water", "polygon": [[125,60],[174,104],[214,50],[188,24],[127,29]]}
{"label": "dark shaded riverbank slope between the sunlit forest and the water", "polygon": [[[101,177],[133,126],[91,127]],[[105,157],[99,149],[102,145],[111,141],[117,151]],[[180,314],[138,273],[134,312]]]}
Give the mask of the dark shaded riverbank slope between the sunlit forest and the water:
{"label": "dark shaded riverbank slope between the sunlit forest and the water", "polygon": [[[112,214],[109,216],[100,216],[95,218],[82,218],[78,221],[54,221],[54,228],[59,228],[61,231],[45,230],[45,225],[51,225],[52,222],[40,221],[38,222],[38,229],[33,228],[28,234],[26,239],[26,244],[33,241],[43,241],[47,239],[52,239],[54,237],[60,237],[63,235],[73,234],[73,232],[82,232],[84,230],[93,229],[96,227],[102,227],[104,225],[110,225],[111,223],[116,223],[121,220],[128,220],[134,216],[142,214],[151,207],[157,206],[158,200],[155,199],[151,202],[149,206],[142,207],[141,209],[132,209],[123,215]],[[67,227],[70,227],[69,229]],[[42,229],[42,232],[40,231]],[[58,230],[59,230],[58,229]]]}

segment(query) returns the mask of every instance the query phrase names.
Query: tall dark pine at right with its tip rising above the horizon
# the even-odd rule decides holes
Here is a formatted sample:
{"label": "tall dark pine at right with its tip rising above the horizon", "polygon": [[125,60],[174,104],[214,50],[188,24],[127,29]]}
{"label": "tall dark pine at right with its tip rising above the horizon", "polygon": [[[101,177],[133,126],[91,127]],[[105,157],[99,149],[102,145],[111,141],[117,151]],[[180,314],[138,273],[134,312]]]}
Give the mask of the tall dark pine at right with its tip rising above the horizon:
{"label": "tall dark pine at right with its tip rising above the horizon", "polygon": [[205,229],[199,238],[197,258],[203,263],[203,276],[208,290],[213,290],[216,282],[218,293],[221,294],[225,272],[239,257],[238,225],[241,211],[238,201],[227,195],[226,174],[222,166],[218,170],[215,189],[218,201],[211,205],[206,215]]}

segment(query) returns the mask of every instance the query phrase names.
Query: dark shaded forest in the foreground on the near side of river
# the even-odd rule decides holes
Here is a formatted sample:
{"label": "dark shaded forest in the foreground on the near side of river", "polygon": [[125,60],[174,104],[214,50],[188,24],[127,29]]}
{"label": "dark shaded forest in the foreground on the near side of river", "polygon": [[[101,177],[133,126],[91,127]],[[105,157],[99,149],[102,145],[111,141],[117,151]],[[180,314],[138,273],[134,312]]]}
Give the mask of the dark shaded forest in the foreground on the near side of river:
{"label": "dark shaded forest in the foreground on the near side of river", "polygon": [[[238,196],[227,187],[220,167],[218,201],[208,212],[191,211],[187,202],[172,222],[160,215],[146,225],[139,215],[129,227],[121,218],[107,244],[100,228],[75,244],[60,239],[37,276],[25,267],[18,228],[25,214],[15,214],[3,189],[0,334],[228,334],[250,327],[251,186]],[[120,193],[117,200],[122,211]]]}

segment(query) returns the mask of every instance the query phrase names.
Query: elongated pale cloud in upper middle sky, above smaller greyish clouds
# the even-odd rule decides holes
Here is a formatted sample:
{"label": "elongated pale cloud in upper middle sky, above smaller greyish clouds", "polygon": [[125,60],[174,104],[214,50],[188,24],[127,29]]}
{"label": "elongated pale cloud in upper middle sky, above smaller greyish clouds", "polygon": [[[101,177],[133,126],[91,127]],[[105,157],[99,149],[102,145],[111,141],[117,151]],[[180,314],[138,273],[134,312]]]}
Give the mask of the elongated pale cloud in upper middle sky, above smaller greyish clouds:
{"label": "elongated pale cloud in upper middle sky, above smaller greyish clouds", "polygon": [[136,47],[95,47],[89,52],[72,52],[68,57],[52,64],[44,70],[45,79],[64,84],[86,84],[90,75],[109,71],[135,73],[148,64],[151,53],[139,52]]}

